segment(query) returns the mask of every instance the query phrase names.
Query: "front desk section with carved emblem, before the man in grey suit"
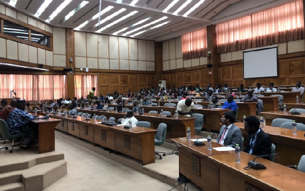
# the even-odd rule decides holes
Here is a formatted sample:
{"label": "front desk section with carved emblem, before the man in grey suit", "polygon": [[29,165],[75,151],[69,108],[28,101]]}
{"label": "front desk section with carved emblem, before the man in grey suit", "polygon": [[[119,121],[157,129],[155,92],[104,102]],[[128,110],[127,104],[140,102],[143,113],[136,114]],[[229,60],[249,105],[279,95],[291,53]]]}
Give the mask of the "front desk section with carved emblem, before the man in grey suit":
{"label": "front desk section with carved emblem, before the man in grey suit", "polygon": [[[193,137],[197,139],[197,137]],[[232,151],[217,151],[215,149],[208,150],[207,146],[191,146],[193,141],[187,138],[171,139],[179,145],[179,173],[185,175],[192,182],[200,186],[202,189],[218,191],[219,167],[217,167],[208,156],[218,154],[233,154]],[[204,142],[207,144],[207,142]],[[212,147],[220,147],[221,144],[212,142]]]}

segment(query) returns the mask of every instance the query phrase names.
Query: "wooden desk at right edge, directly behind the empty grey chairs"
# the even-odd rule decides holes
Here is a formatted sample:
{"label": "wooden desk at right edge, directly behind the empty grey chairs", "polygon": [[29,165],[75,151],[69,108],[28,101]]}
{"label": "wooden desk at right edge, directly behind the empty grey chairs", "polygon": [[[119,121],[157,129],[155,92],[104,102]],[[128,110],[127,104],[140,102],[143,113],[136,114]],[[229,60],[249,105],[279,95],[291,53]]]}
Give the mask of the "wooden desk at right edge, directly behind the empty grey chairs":
{"label": "wooden desk at right edge, directly behind the empty grey chairs", "polygon": [[292,115],[292,114],[284,114],[283,111],[267,111],[261,112],[261,114],[266,119],[266,125],[271,125],[272,120],[275,118],[286,118],[295,120],[298,123],[305,123],[305,113],[301,113],[300,115]]}

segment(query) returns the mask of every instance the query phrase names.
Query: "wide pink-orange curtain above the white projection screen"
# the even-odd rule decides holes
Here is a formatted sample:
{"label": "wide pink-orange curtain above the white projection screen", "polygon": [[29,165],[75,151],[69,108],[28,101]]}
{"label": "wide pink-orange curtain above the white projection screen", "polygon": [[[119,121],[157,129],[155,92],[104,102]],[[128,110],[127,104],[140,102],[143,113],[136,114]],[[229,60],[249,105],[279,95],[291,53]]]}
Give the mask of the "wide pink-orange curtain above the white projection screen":
{"label": "wide pink-orange curtain above the white projection screen", "polygon": [[296,1],[216,26],[217,52],[304,39],[303,3]]}

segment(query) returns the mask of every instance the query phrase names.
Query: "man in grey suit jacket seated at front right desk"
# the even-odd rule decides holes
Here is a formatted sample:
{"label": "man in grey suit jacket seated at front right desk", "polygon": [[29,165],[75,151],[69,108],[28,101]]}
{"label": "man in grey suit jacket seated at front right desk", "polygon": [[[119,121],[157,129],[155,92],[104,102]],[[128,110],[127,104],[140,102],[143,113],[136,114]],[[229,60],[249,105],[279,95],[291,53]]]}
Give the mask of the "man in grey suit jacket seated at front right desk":
{"label": "man in grey suit jacket seated at front right desk", "polygon": [[225,112],[221,118],[221,124],[223,126],[220,129],[220,134],[217,143],[235,148],[236,144],[241,145],[241,131],[234,124],[235,115],[231,112]]}

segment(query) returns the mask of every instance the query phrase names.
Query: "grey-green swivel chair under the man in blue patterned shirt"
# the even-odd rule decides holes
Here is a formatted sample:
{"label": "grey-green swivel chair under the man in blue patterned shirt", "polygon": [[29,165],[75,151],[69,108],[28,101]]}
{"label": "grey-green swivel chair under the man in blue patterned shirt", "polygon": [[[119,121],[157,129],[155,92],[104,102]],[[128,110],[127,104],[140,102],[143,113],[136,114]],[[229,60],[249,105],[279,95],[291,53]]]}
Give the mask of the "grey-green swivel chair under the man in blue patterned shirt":
{"label": "grey-green swivel chair under the man in blue patterned shirt", "polygon": [[25,145],[20,145],[20,144],[16,145],[15,144],[15,139],[25,136],[26,133],[20,133],[20,134],[11,135],[9,130],[8,130],[8,124],[3,119],[0,119],[0,134],[2,135],[2,137],[5,140],[6,139],[12,139],[12,145],[6,145],[4,147],[0,147],[0,150],[4,149],[4,148],[6,150],[8,150],[9,147],[12,147],[12,150],[10,150],[10,153],[12,153],[14,147],[20,147],[20,146],[26,147]]}

